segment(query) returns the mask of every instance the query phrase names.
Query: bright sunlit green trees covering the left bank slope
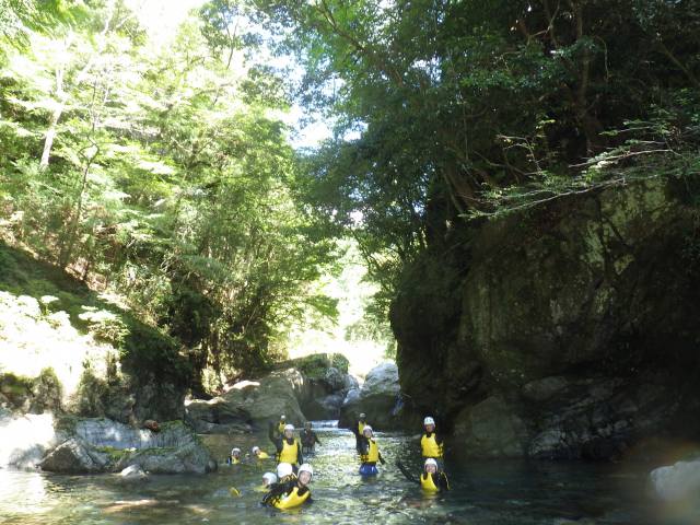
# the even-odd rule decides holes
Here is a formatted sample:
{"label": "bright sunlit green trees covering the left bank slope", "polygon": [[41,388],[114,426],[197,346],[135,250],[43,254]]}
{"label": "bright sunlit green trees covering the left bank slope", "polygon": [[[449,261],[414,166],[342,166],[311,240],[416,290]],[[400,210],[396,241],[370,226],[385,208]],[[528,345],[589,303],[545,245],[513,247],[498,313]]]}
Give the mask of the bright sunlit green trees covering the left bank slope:
{"label": "bright sunlit green trees covering the left bank slope", "polygon": [[[47,311],[120,348],[129,373],[179,384],[269,363],[290,318],[336,315],[310,285],[334,243],[298,198],[298,160],[273,116],[288,101],[256,62],[252,9],[209,2],[159,50],[122,2],[54,3],[65,15],[22,22],[26,45],[0,40],[0,229],[126,295],[159,329],[21,269],[14,289],[58,298]],[[20,21],[54,11],[13,5]]]}

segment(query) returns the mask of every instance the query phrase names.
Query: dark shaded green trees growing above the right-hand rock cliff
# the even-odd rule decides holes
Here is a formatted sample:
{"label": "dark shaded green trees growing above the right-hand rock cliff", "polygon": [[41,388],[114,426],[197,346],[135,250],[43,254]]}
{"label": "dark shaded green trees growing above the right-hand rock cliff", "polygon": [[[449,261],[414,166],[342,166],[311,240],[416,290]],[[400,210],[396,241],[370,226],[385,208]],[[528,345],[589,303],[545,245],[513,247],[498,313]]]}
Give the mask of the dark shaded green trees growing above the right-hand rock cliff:
{"label": "dark shaded green trees growing above the right-hand rock cliff", "polygon": [[337,124],[303,192],[358,241],[384,316],[404,268],[471,219],[697,173],[698,2],[255,4]]}

